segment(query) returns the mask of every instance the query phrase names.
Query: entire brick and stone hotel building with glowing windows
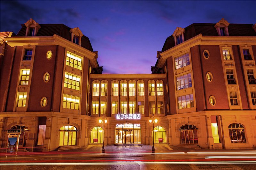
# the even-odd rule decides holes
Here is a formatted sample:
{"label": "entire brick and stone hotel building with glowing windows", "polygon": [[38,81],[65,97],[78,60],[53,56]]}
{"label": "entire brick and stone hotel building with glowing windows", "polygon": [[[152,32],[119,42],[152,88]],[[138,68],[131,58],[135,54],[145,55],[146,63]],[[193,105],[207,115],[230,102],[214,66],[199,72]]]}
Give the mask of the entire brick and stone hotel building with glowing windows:
{"label": "entire brick and stone hotel building with glowing windows", "polygon": [[21,129],[23,151],[103,139],[255,148],[255,55],[256,25],[222,18],[177,27],[152,74],[101,74],[98,52],[78,27],[30,19],[17,35],[1,33],[1,148],[10,129]]}

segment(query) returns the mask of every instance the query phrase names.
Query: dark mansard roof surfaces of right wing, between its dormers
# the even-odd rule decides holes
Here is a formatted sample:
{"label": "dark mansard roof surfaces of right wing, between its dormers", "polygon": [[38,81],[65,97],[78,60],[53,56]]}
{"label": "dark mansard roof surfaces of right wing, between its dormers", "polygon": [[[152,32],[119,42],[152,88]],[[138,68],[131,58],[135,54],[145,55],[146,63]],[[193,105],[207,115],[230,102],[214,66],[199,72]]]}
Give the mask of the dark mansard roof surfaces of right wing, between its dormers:
{"label": "dark mansard roof surfaces of right wing, between its dormers", "polygon": [[[203,36],[218,36],[218,32],[214,27],[216,24],[198,23],[191,24],[185,28],[184,41],[202,34]],[[256,36],[256,32],[252,28],[253,24],[229,24],[229,36]],[[166,38],[162,51],[166,51],[175,46],[174,37],[171,35]]]}

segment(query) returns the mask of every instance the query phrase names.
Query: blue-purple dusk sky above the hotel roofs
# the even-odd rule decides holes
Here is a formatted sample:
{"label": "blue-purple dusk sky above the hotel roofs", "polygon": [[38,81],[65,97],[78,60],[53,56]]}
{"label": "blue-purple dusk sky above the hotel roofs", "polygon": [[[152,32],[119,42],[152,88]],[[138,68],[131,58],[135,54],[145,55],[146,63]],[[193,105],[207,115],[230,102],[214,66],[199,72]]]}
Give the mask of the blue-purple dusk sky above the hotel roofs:
{"label": "blue-purple dusk sky above the hotel roofs", "polygon": [[103,73],[151,73],[156,51],[177,26],[255,24],[256,1],[0,1],[0,31],[18,33],[29,18],[79,27],[98,51]]}

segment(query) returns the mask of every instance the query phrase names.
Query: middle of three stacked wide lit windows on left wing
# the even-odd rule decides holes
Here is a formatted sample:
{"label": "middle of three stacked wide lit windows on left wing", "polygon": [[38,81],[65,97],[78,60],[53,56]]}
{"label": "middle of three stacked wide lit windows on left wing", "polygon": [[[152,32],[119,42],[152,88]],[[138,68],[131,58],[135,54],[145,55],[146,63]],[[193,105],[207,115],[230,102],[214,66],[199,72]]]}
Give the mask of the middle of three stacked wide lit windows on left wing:
{"label": "middle of three stacked wide lit windows on left wing", "polygon": [[81,77],[65,72],[64,87],[80,90]]}

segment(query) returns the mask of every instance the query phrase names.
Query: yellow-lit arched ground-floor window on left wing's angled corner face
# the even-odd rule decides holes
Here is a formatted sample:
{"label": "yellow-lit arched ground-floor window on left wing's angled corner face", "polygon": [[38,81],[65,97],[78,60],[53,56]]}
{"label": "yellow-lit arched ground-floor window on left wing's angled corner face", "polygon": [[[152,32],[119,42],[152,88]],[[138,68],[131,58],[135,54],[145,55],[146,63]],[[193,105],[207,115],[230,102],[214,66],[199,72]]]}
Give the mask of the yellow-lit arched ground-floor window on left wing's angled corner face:
{"label": "yellow-lit arched ground-floor window on left wing's angled corner face", "polygon": [[60,128],[60,146],[76,145],[76,127],[66,125]]}

